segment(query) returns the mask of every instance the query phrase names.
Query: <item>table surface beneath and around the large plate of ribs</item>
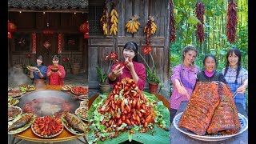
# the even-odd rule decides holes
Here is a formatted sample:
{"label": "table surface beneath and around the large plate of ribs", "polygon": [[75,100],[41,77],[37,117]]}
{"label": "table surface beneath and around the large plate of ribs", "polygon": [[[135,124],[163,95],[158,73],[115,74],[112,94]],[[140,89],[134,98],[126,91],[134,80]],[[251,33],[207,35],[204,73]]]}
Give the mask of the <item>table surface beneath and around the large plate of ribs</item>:
{"label": "table surface beneath and around the large plate of ribs", "polygon": [[[183,112],[186,109],[188,101],[183,101],[181,105],[179,106],[177,110],[177,114]],[[246,118],[248,118],[246,111],[243,110],[241,103],[235,103],[237,106],[238,113],[244,115]],[[170,143],[182,143],[182,144],[202,144],[202,143],[248,143],[248,129],[244,131],[242,134],[238,134],[234,137],[228,138],[226,140],[218,141],[218,142],[205,142],[205,141],[200,141],[198,139],[190,138],[186,134],[183,134],[182,132],[178,131],[175,127],[174,124],[172,123],[170,125]]]}

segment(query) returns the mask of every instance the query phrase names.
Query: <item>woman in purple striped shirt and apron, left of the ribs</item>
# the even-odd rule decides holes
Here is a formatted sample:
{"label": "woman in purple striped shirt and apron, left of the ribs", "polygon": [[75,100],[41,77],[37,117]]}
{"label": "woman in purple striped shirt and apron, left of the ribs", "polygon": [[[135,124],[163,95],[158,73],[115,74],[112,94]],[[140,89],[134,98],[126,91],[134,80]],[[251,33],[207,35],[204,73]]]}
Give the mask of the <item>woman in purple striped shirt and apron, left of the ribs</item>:
{"label": "woman in purple striped shirt and apron, left of the ribs", "polygon": [[194,46],[186,46],[182,52],[182,63],[173,67],[171,81],[173,90],[170,96],[170,122],[178,110],[182,101],[189,101],[190,95],[194,90],[198,66],[194,66],[194,60],[197,57],[198,50]]}

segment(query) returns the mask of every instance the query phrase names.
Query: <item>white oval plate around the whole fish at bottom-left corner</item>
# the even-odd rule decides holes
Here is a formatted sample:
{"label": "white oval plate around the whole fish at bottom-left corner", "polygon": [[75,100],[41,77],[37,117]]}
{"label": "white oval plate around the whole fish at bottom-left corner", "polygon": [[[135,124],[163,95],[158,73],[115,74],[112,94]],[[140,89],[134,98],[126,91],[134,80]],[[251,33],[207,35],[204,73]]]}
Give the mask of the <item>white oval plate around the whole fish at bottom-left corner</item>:
{"label": "white oval plate around the whole fish at bottom-left corner", "polygon": [[[14,122],[18,121],[18,119],[20,119],[20,118],[22,118],[22,117],[24,117],[24,116],[26,116],[26,115],[28,115],[28,114],[19,115],[19,116],[18,116],[17,118],[15,118],[13,121],[8,122],[8,128],[9,128]],[[28,122],[25,126],[18,128],[17,130],[8,131],[8,134],[18,134],[18,133],[21,133],[22,131],[28,129],[28,128],[32,125],[32,123],[34,122],[34,120],[35,120],[35,115],[33,114],[32,119],[30,120],[30,122]]]}

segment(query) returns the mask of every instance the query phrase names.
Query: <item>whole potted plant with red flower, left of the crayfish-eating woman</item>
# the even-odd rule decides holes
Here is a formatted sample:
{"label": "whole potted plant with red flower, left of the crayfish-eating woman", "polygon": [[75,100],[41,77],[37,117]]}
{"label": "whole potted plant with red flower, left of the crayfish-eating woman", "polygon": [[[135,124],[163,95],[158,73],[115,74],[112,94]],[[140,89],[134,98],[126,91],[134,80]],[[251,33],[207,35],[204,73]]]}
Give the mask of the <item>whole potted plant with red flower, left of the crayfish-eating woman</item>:
{"label": "whole potted plant with red flower, left of the crayfish-eating woman", "polygon": [[102,94],[104,93],[110,93],[111,87],[108,82],[107,75],[110,73],[111,66],[114,64],[114,62],[117,62],[118,54],[115,52],[111,52],[109,55],[104,56],[105,61],[110,61],[109,66],[106,70],[104,71],[103,66],[96,66],[96,71],[97,71],[97,76],[98,76],[98,86],[99,90]]}

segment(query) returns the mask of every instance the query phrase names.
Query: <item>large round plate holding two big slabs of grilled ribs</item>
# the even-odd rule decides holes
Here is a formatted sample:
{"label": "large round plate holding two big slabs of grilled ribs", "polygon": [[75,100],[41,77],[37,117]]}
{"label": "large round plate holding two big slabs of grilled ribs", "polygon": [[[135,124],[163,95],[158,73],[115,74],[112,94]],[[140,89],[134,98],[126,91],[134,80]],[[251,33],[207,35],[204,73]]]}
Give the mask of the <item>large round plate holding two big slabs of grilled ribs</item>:
{"label": "large round plate holding two big slabs of grilled ribs", "polygon": [[229,86],[198,82],[186,109],[174,117],[174,127],[191,138],[222,141],[248,129],[248,119],[234,104]]}

